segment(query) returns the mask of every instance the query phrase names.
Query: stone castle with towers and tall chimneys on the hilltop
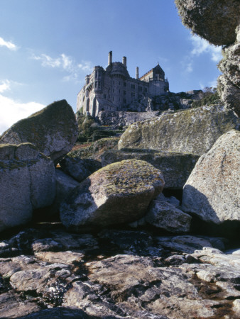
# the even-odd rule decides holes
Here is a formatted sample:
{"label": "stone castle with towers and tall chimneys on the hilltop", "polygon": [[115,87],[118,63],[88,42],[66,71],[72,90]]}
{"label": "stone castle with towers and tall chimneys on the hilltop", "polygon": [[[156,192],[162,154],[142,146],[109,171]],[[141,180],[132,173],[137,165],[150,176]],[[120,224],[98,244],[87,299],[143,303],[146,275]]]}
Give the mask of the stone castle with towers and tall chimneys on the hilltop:
{"label": "stone castle with towers and tall chimneys on the hilltop", "polygon": [[132,78],[126,67],[126,57],[121,62],[112,62],[109,52],[108,66],[94,67],[87,75],[85,85],[77,94],[77,111],[98,116],[100,111],[148,111],[152,98],[168,94],[169,83],[165,73],[158,64],[142,77]]}

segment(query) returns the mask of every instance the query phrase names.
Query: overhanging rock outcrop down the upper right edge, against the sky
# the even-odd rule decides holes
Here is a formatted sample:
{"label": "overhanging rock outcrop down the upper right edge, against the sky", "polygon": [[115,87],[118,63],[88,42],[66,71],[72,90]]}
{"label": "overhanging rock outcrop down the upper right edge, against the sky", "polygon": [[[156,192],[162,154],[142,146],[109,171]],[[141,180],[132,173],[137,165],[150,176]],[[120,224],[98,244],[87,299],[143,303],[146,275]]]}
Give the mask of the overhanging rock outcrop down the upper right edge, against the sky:
{"label": "overhanging rock outcrop down the upper right edge, against the sky", "polygon": [[214,45],[224,47],[218,92],[225,106],[240,115],[239,0],[175,0],[182,23]]}

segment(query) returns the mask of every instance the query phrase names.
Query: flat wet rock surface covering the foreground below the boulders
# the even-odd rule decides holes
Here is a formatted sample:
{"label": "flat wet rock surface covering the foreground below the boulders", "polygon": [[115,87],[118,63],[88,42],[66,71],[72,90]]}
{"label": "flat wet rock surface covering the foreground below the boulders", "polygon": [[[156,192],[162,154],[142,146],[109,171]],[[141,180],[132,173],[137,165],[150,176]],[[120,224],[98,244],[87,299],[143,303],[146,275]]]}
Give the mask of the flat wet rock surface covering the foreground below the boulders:
{"label": "flat wet rock surface covering the foreground below the boulders", "polygon": [[239,318],[239,248],[222,237],[36,224],[0,244],[1,318]]}

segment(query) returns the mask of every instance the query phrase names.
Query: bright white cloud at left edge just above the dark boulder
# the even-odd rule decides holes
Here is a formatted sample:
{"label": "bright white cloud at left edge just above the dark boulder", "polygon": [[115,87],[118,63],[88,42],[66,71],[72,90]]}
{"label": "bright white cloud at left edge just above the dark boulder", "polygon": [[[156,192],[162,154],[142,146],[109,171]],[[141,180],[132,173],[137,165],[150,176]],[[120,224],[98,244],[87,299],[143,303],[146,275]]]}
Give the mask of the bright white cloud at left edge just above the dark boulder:
{"label": "bright white cloud at left edge just above the dark boulder", "polygon": [[13,123],[31,116],[44,107],[45,105],[37,102],[21,103],[0,94],[0,135]]}

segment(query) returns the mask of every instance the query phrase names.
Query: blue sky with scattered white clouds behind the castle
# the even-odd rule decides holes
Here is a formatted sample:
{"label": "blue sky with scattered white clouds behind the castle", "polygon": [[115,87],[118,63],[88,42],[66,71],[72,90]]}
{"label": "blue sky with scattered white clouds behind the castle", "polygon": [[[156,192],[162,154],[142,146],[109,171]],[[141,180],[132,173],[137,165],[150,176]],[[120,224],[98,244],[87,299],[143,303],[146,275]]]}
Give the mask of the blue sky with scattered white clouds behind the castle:
{"label": "blue sky with scattered white clouds behind the castle", "polygon": [[0,133],[77,93],[94,65],[127,57],[131,77],[159,62],[170,91],[216,84],[221,47],[193,37],[173,0],[0,0]]}

